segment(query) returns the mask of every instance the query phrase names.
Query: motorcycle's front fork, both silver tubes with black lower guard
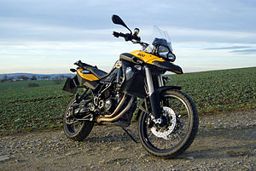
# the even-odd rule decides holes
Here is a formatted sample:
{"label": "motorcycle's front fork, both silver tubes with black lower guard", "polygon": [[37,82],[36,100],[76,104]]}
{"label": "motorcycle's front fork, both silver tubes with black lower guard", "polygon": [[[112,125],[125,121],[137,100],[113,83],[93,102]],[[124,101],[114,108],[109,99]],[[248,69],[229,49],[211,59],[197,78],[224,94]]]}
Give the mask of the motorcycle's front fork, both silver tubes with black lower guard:
{"label": "motorcycle's front fork, both silver tubes with black lower guard", "polygon": [[[160,95],[154,89],[154,83],[153,83],[151,71],[149,70],[148,66],[144,66],[144,68],[146,72],[148,94],[149,94],[151,109],[154,116],[154,123],[161,123],[162,119],[160,118],[160,114],[161,114]],[[158,82],[160,87],[163,86],[163,79],[161,76],[158,76]]]}

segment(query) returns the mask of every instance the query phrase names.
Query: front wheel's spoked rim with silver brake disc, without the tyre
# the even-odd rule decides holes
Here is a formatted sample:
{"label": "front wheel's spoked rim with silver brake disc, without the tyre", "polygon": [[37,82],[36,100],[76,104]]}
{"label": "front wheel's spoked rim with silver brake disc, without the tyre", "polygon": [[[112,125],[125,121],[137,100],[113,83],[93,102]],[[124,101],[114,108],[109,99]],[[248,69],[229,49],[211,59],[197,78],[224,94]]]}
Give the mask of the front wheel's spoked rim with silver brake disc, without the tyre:
{"label": "front wheel's spoked rim with silver brake disc, without the tyre", "polygon": [[144,114],[142,125],[144,142],[153,147],[155,151],[172,151],[182,145],[189,136],[191,111],[189,105],[174,94],[165,95],[160,105],[166,114],[162,116],[166,125],[152,125],[150,117]]}

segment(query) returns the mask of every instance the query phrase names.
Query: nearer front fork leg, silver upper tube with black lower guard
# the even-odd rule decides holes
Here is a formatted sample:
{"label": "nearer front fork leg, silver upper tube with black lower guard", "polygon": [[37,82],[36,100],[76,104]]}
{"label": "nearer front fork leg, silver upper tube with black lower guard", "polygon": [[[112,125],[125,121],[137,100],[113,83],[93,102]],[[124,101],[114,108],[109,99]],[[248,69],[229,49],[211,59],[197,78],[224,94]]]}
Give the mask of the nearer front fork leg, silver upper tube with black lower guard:
{"label": "nearer front fork leg, silver upper tube with black lower guard", "polygon": [[154,83],[151,72],[147,66],[145,66],[146,79],[148,84],[148,93],[151,109],[155,119],[160,118],[160,98],[156,91],[154,91]]}

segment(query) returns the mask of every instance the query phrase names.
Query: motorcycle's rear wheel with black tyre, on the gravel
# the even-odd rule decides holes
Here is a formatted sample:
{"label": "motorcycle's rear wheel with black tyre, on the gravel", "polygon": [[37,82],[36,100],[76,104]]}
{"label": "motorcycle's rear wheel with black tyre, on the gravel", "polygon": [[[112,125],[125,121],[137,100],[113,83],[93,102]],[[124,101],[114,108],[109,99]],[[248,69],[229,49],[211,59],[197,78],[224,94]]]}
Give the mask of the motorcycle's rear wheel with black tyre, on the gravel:
{"label": "motorcycle's rear wheel with black tyre, on the gravel", "polygon": [[76,121],[72,116],[72,108],[70,105],[74,103],[74,99],[67,105],[63,117],[63,130],[68,138],[72,140],[84,140],[93,128],[94,123],[90,121]]}

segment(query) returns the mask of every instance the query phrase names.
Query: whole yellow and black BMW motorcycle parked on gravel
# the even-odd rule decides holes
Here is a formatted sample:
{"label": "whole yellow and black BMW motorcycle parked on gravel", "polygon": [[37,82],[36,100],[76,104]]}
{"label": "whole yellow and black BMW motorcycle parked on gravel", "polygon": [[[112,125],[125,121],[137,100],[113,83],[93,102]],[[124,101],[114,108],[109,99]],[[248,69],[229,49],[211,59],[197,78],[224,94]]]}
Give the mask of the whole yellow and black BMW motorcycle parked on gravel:
{"label": "whole yellow and black BMW motorcycle parked on gravel", "polygon": [[[146,151],[156,157],[173,158],[189,148],[198,129],[195,103],[179,86],[166,86],[166,71],[183,74],[174,65],[171,43],[155,37],[152,45],[138,37],[139,29],[131,29],[118,15],[112,21],[129,33],[113,31],[114,37],[138,43],[141,50],[119,55],[119,60],[107,73],[80,60],[73,78],[67,78],[63,90],[75,94],[67,105],[63,129],[67,138],[84,140],[95,123],[113,123],[121,128],[137,119],[139,140]],[[84,88],[79,95],[78,88]],[[137,100],[143,102],[137,107]],[[130,134],[131,135],[131,134]]]}

